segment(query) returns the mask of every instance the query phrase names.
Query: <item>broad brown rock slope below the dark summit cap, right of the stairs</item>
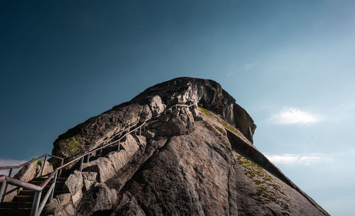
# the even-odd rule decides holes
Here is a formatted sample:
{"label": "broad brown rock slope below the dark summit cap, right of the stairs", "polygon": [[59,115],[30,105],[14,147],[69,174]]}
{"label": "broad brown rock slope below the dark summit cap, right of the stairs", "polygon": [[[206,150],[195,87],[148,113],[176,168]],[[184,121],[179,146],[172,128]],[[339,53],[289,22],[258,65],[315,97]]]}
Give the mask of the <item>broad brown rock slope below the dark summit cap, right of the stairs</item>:
{"label": "broad brown rock slope below the dark summit cap, right of the stairs", "polygon": [[[200,113],[202,121],[195,122],[195,130],[173,135],[155,150],[126,182],[121,196],[130,196],[112,215],[140,210],[145,215],[327,215],[282,173],[271,174],[269,161],[257,165],[243,157],[255,147],[218,115],[208,114]],[[224,125],[235,137],[226,135]],[[232,146],[236,137],[245,142],[243,152]]]}

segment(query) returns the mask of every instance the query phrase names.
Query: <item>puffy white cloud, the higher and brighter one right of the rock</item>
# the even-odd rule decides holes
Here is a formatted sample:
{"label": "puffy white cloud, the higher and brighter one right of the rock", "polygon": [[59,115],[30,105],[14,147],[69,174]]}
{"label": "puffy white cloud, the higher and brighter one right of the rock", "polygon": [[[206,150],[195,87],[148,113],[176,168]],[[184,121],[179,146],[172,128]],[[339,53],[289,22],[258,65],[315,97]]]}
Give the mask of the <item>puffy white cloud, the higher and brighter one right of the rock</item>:
{"label": "puffy white cloud, the higher and brighter one right of the rock", "polygon": [[318,115],[307,113],[297,108],[283,108],[271,117],[271,121],[281,125],[310,124],[320,121]]}

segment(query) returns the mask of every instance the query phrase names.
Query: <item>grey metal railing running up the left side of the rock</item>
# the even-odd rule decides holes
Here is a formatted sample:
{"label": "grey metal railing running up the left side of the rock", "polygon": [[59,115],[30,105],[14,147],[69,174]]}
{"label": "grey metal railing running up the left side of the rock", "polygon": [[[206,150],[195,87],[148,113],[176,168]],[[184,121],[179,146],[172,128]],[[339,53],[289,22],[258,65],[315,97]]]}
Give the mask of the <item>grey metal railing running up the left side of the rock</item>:
{"label": "grey metal railing running up the left side of the rock", "polygon": [[[151,120],[153,120],[155,118],[158,118],[160,115],[163,115],[163,114],[165,115],[168,111],[170,111],[170,113],[173,112],[173,108],[177,109],[178,106],[190,108],[191,106],[197,106],[197,103],[192,103],[191,105],[176,104],[174,106],[171,106],[170,108],[165,109],[162,113],[159,113],[158,115],[156,115]],[[67,162],[66,164],[63,164],[64,159],[62,159],[60,157],[56,157],[56,156],[53,156],[53,155],[50,155],[50,154],[43,154],[42,156],[40,156],[40,157],[38,157],[36,159],[32,159],[31,161],[28,161],[25,164],[21,164],[21,165],[18,165],[18,166],[2,166],[2,167],[0,167],[0,169],[10,169],[9,176],[5,176],[5,175],[1,175],[0,176],[0,183],[2,182],[1,188],[0,188],[0,198],[1,198],[0,202],[2,202],[4,200],[4,198],[5,198],[7,185],[8,185],[7,182],[9,182],[11,185],[15,185],[15,186],[18,186],[18,187],[21,187],[21,188],[26,188],[26,189],[35,191],[35,197],[33,198],[33,205],[32,205],[32,209],[31,209],[31,216],[39,216],[40,212],[42,212],[42,210],[43,210],[43,208],[45,206],[45,203],[47,203],[48,198],[53,198],[55,182],[57,180],[58,171],[59,171],[59,175],[60,175],[60,171],[62,171],[63,168],[65,168],[66,166],[68,166],[70,164],[73,164],[74,162],[79,161],[79,160],[80,160],[79,170],[82,171],[82,166],[84,164],[84,157],[85,156],[87,156],[87,162],[89,162],[90,155],[93,154],[93,153],[96,153],[97,151],[100,151],[99,155],[101,157],[102,156],[102,149],[104,149],[106,147],[109,147],[109,146],[111,146],[113,144],[117,144],[117,151],[119,151],[120,147],[121,147],[121,140],[124,137],[126,137],[126,135],[129,135],[129,134],[131,134],[133,132],[137,133],[138,130],[139,130],[139,135],[141,135],[142,127],[143,127],[143,131],[145,131],[147,124],[148,124],[147,121],[143,122],[141,125],[139,125],[139,123],[138,123],[136,125],[133,125],[131,127],[126,128],[125,130],[122,130],[121,132],[118,132],[118,133],[116,133],[114,135],[111,135],[111,137],[107,138],[106,140],[103,140],[102,142],[94,144],[94,146],[89,147],[88,149],[85,149],[84,152],[82,152],[82,154],[79,157],[77,157],[75,159],[72,159],[71,161]],[[131,128],[133,128],[133,127],[136,127],[136,128],[131,130]],[[124,132],[126,132],[126,133],[124,135],[122,135]],[[122,135],[122,136],[119,137],[119,135]],[[114,142],[109,142],[109,141],[113,140],[116,137],[119,137],[119,139],[115,140]],[[109,142],[109,143],[104,144],[105,142]],[[39,186],[36,186],[36,185],[34,185],[32,183],[27,183],[27,182],[24,182],[24,181],[20,181],[20,180],[18,180],[16,178],[11,178],[11,173],[12,173],[13,169],[21,168],[23,166],[26,166],[27,164],[30,164],[33,161],[36,161],[38,159],[41,159],[41,158],[45,157],[45,159],[43,161],[43,164],[40,167],[40,176],[42,176],[43,169],[45,168],[45,161],[47,160],[48,156],[60,159],[61,160],[61,164],[60,164],[60,166],[55,168],[55,170],[52,173],[50,173],[48,175],[48,177],[45,178],[45,180],[42,183],[40,183]],[[50,186],[50,188],[48,189],[47,193],[45,194],[45,197],[43,198],[42,203],[40,203],[40,197],[42,195],[43,188],[45,188],[45,186],[48,185],[48,183],[50,182],[50,180],[52,180],[52,178],[53,178],[53,183]]]}

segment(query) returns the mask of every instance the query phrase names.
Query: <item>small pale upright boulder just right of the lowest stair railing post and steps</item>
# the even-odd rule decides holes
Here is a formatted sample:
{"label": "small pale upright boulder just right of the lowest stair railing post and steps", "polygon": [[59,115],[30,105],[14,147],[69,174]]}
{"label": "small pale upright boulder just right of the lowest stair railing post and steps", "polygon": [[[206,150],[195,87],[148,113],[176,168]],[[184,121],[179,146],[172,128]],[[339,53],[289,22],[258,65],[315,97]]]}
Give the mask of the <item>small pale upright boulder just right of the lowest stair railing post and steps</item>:
{"label": "small pale upright boulder just right of the lowest stair railing post and steps", "polygon": [[65,190],[72,195],[72,202],[77,203],[80,198],[82,198],[82,186],[83,178],[80,171],[74,171],[74,174],[71,174],[67,181],[65,181]]}

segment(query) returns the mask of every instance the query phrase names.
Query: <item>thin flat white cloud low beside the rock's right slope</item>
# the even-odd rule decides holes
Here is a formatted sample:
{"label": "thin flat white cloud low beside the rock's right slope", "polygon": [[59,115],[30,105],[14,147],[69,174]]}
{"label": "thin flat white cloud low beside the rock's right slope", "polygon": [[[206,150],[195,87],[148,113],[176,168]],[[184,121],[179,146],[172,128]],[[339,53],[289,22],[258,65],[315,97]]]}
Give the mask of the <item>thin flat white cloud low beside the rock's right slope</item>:
{"label": "thin flat white cloud low beside the rock's right slope", "polygon": [[323,154],[265,154],[275,164],[315,164],[320,161],[329,161]]}

